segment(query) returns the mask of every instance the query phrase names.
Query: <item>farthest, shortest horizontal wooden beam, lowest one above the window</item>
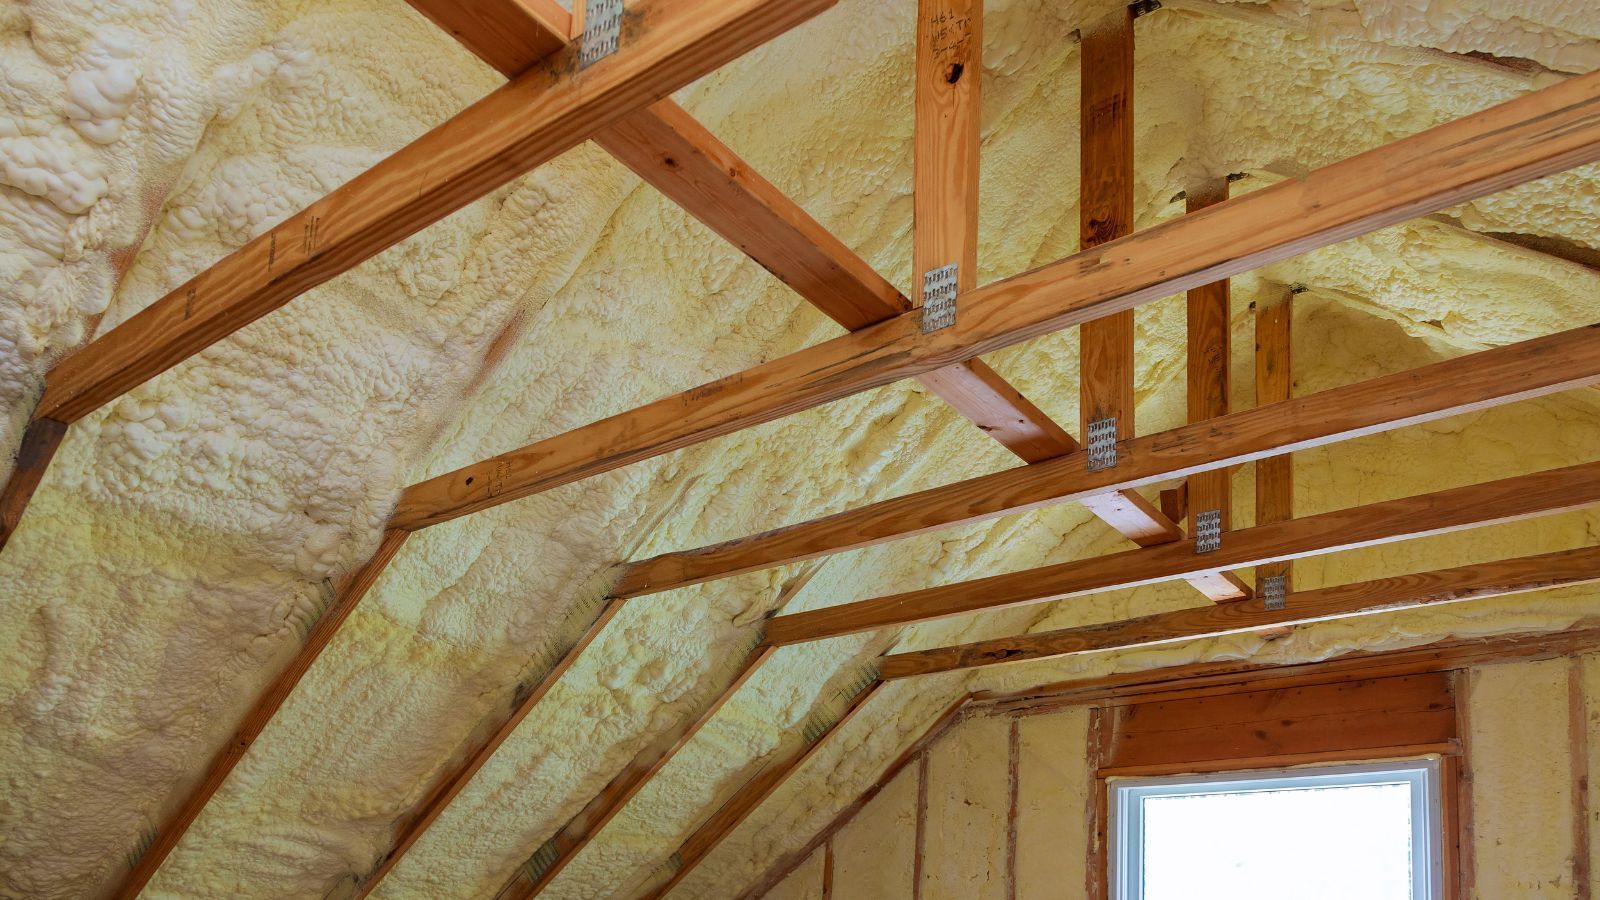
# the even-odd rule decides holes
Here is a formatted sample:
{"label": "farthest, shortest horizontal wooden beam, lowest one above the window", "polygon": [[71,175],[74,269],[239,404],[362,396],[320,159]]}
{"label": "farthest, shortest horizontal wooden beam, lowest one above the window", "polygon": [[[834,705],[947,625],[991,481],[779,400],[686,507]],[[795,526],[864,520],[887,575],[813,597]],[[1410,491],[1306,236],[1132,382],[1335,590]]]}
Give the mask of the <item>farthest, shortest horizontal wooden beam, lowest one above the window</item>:
{"label": "farthest, shortest horizontal wooden beam, lowest one above the window", "polygon": [[1074,653],[1154,647],[1261,628],[1310,625],[1331,618],[1453,604],[1475,597],[1501,597],[1589,581],[1600,581],[1600,548],[1568,549],[1298,591],[1288,596],[1286,607],[1280,610],[1269,610],[1262,601],[1254,599],[1243,604],[1194,607],[1104,625],[978,641],[960,647],[893,653],[883,658],[883,677],[888,681],[1002,663],[1051,660]]}

